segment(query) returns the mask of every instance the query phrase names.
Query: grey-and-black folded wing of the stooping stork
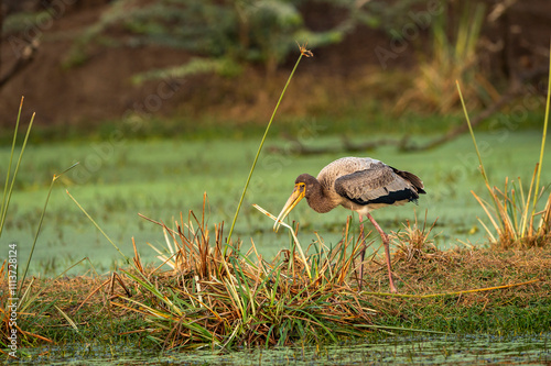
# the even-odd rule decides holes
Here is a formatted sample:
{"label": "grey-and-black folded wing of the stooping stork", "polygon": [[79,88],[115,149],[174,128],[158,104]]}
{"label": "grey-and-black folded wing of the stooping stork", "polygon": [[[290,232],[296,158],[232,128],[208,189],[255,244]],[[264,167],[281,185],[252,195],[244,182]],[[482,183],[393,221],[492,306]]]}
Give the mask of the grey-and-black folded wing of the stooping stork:
{"label": "grey-and-black folded wing of the stooping stork", "polygon": [[[359,204],[417,201],[419,193],[424,193],[422,182],[417,178],[418,189],[404,171],[399,171],[386,164],[371,165],[369,169],[355,171],[335,180],[335,191]],[[409,175],[413,176],[411,173]],[[419,192],[419,193],[418,193]]]}

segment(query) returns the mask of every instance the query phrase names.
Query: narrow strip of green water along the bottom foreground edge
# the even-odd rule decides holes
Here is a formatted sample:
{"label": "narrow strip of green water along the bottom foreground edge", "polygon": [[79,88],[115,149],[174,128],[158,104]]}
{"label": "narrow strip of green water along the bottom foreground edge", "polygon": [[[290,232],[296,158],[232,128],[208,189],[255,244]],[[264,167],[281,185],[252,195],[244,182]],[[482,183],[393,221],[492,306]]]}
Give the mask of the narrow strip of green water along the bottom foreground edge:
{"label": "narrow strip of green water along the bottom foreground edge", "polygon": [[50,365],[549,365],[551,333],[512,337],[397,336],[354,345],[252,348],[229,353],[210,350],[155,353],[132,346],[99,350],[83,345],[44,347],[30,353],[28,359]]}

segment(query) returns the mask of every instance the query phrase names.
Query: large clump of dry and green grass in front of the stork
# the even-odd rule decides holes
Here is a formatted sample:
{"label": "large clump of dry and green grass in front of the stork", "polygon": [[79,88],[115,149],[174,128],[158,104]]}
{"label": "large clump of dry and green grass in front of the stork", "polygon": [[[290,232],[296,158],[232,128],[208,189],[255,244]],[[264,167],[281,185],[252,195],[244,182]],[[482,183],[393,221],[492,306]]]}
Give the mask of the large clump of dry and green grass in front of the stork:
{"label": "large clump of dry and green grass in front of the stork", "polygon": [[204,215],[190,212],[174,230],[160,224],[170,253],[160,258],[171,269],[145,269],[137,252],[134,269],[125,275],[138,296],[120,295],[112,303],[142,314],[149,325],[139,332],[164,348],[336,342],[360,336],[357,324],[372,324],[377,311],[348,282],[354,264],[345,253],[358,252],[349,241],[318,249],[307,263],[294,251],[268,263],[255,245],[241,253],[231,242],[225,251],[222,224],[210,245]]}

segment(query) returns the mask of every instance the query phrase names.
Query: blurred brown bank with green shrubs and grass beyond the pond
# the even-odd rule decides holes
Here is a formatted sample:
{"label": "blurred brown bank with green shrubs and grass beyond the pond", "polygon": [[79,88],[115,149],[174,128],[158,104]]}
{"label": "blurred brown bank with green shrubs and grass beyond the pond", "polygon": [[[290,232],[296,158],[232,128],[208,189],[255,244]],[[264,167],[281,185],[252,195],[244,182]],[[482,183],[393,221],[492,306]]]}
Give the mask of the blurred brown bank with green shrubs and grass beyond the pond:
{"label": "blurred brown bank with green shrubs and grass beyond the pond", "polygon": [[325,133],[446,131],[458,111],[456,79],[476,112],[541,98],[551,34],[551,3],[537,0],[0,4],[0,125],[10,130],[25,96],[46,141],[114,129],[126,136],[256,133],[298,42],[314,58],[284,100],[285,129],[315,118],[341,122]]}

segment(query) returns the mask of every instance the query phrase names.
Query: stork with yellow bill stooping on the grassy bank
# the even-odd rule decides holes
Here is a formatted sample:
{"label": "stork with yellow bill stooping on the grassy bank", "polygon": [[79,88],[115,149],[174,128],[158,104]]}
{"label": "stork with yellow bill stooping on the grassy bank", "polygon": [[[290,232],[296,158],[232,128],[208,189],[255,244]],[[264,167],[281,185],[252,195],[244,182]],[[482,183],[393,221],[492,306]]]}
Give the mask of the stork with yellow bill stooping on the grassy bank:
{"label": "stork with yellow bill stooping on the grassy bank", "polygon": [[[309,206],[320,213],[328,212],[339,204],[358,212],[361,235],[364,233],[363,218],[367,217],[381,236],[387,257],[390,290],[397,292],[392,280],[388,235],[369,212],[386,206],[417,203],[419,195],[425,193],[423,188],[421,179],[409,171],[398,170],[370,157],[343,157],[324,167],[317,178],[309,174],[301,174],[296,178],[293,193],[281,210],[273,229],[278,231],[281,220],[304,197]],[[364,246],[360,252],[360,288],[365,252]]]}

